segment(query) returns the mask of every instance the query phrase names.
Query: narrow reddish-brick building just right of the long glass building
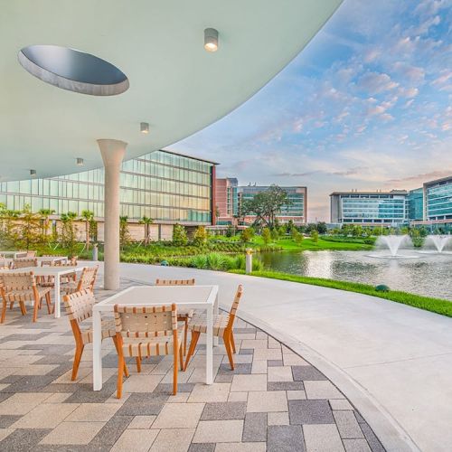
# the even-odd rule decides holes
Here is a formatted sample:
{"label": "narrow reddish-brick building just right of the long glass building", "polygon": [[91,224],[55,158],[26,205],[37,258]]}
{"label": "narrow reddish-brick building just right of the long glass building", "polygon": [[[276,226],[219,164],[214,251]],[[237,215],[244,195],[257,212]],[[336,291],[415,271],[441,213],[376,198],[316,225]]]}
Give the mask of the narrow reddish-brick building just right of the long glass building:
{"label": "narrow reddish-brick building just right of the long glass building", "polygon": [[239,214],[239,181],[235,177],[219,178],[215,181],[215,216],[218,226],[236,223]]}

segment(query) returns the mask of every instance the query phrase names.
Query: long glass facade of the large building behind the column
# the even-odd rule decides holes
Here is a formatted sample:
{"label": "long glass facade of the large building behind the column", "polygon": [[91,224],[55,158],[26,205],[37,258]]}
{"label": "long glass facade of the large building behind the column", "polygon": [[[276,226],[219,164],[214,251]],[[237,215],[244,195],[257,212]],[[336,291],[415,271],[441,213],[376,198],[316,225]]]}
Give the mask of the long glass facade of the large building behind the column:
{"label": "long glass facade of the large building behind the column", "polygon": [[[124,162],[120,174],[121,215],[155,222],[211,224],[214,163],[155,151]],[[10,210],[30,204],[33,212],[52,209],[56,215],[84,210],[104,216],[102,168],[47,179],[0,184],[0,202]]]}

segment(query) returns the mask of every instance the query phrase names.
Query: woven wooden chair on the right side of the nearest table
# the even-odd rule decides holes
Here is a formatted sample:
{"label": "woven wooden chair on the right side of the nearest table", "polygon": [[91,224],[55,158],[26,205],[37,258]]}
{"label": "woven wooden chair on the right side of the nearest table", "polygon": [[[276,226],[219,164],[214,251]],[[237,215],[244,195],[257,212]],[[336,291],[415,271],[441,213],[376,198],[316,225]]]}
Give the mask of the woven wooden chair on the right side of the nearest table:
{"label": "woven wooden chair on the right side of the nearest table", "polygon": [[[235,341],[233,326],[235,321],[235,315],[239,308],[240,297],[243,294],[243,287],[237,288],[237,292],[232,302],[231,311],[229,313],[216,315],[213,317],[213,335],[221,337],[228,353],[229,363],[231,364],[231,371],[234,370],[234,360],[232,353],[235,353]],[[185,358],[184,370],[186,370],[190,358],[193,356],[196,344],[198,344],[201,333],[207,333],[207,320],[205,314],[193,315],[192,321],[188,324],[188,328],[192,331],[192,341],[188,349],[187,356]]]}

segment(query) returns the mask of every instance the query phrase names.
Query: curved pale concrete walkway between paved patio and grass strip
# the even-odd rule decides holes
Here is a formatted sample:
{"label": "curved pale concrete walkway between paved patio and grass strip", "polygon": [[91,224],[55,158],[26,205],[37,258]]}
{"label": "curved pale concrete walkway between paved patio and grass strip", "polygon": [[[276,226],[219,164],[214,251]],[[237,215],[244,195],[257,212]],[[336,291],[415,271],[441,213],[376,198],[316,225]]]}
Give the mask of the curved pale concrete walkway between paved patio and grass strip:
{"label": "curved pale concrete walkway between paved patio and grass strip", "polygon": [[363,413],[387,450],[449,451],[452,319],[351,292],[193,268],[121,264],[137,281],[194,277],[220,286],[229,308],[325,373]]}

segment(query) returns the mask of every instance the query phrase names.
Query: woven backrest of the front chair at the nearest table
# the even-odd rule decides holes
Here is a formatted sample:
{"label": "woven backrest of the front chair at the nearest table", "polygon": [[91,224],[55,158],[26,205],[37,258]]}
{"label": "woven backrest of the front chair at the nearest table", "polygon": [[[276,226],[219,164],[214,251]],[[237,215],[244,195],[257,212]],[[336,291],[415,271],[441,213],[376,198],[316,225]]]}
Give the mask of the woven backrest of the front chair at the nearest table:
{"label": "woven backrest of the front chair at the nearest table", "polygon": [[115,305],[116,331],[122,337],[156,337],[177,331],[175,304],[164,306]]}

